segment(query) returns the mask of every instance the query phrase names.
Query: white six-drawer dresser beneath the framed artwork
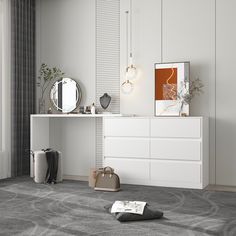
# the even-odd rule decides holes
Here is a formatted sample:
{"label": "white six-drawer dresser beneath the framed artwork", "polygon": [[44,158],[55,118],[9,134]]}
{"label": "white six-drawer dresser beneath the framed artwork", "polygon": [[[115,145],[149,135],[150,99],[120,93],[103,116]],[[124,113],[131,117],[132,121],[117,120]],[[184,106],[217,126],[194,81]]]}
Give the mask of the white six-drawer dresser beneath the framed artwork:
{"label": "white six-drawer dresser beneath the framed artwork", "polygon": [[208,119],[104,119],[104,166],[122,183],[202,189],[209,183]]}

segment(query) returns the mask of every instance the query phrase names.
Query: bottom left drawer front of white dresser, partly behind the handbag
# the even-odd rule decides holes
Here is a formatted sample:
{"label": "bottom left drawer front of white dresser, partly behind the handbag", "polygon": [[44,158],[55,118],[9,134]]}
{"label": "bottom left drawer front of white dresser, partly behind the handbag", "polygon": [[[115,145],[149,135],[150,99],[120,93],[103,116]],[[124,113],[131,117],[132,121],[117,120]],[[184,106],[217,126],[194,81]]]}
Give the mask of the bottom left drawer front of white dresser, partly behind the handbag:
{"label": "bottom left drawer front of white dresser, partly behind the handbag", "polygon": [[149,179],[149,161],[105,158],[104,166],[110,166],[122,180],[147,180]]}

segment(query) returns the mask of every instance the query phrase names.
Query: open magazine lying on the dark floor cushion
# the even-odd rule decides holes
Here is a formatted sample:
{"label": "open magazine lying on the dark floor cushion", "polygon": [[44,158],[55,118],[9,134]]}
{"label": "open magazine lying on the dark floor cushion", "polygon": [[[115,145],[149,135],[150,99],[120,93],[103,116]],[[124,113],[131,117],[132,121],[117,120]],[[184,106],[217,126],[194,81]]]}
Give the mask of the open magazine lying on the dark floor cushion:
{"label": "open magazine lying on the dark floor cushion", "polygon": [[111,213],[127,212],[142,215],[146,204],[140,201],[115,201]]}

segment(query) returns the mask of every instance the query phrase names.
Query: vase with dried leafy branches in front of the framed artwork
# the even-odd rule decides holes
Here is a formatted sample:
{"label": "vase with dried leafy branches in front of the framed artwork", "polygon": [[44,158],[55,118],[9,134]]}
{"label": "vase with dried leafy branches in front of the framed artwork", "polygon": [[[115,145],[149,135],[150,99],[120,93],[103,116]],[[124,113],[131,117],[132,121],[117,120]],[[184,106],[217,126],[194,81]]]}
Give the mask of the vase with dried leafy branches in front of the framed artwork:
{"label": "vase with dried leafy branches in front of the framed artwork", "polygon": [[183,106],[184,105],[190,105],[192,99],[195,96],[199,96],[203,93],[203,82],[197,77],[193,80],[190,79],[188,81],[187,79],[184,79],[184,81],[181,84],[181,89],[179,90],[177,94],[177,98],[180,101],[180,110],[179,115],[182,114]]}

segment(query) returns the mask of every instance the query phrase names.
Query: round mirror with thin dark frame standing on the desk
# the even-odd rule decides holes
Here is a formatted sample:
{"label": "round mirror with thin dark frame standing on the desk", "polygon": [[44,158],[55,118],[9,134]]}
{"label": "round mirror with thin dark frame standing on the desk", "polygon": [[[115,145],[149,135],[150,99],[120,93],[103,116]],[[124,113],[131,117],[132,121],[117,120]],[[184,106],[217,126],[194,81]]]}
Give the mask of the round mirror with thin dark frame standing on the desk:
{"label": "round mirror with thin dark frame standing on the desk", "polygon": [[50,91],[50,100],[57,111],[63,113],[75,110],[81,101],[79,84],[71,78],[57,80]]}

